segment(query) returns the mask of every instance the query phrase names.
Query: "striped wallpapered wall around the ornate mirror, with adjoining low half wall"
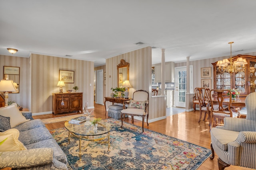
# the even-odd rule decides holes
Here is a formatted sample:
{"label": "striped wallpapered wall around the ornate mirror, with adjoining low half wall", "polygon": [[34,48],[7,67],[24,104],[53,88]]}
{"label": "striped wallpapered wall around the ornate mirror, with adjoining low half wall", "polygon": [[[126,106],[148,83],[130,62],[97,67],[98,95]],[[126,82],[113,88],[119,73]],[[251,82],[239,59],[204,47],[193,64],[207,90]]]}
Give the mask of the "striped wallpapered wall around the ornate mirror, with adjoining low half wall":
{"label": "striped wallpapered wall around the ornate mirror, with adjoining low half wall", "polygon": [[[117,65],[121,59],[130,63],[129,81],[132,88],[129,88],[129,98],[132,98],[133,92],[136,90],[146,90],[151,92],[151,47],[138,49],[129,53],[118,55],[106,59],[106,91],[104,96],[110,96],[112,93],[111,87],[117,87]],[[106,108],[112,104],[106,102]],[[149,119],[163,117],[166,115],[166,97],[149,98]]]}

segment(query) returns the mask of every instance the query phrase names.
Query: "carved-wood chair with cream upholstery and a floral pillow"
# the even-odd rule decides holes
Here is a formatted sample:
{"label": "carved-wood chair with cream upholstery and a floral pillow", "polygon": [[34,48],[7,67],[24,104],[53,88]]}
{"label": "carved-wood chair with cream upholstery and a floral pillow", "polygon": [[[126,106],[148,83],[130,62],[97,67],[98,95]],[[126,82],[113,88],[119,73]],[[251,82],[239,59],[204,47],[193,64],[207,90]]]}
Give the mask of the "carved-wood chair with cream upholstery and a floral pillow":
{"label": "carved-wood chair with cream upholstery and a floral pillow", "polygon": [[122,109],[121,111],[121,121],[123,127],[124,115],[130,115],[132,117],[132,124],[134,123],[134,116],[142,117],[142,132],[144,132],[144,117],[147,116],[147,125],[148,125],[148,92],[145,90],[137,90],[133,93],[132,99],[129,101],[129,106],[127,109]]}

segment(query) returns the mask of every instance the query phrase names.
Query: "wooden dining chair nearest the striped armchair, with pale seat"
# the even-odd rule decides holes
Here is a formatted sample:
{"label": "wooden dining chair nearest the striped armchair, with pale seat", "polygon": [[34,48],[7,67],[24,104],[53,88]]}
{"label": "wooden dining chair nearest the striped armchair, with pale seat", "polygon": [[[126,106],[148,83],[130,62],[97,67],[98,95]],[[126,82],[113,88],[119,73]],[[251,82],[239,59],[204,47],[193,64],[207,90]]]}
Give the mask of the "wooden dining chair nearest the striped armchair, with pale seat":
{"label": "wooden dining chair nearest the striped armchair, with pale seat", "polygon": [[[221,90],[216,90],[216,89],[212,89],[210,90],[210,94],[212,93],[216,93],[216,100],[213,98],[210,98],[211,101],[211,106],[214,106],[214,104],[216,104],[215,106],[217,107],[211,107],[210,109],[210,129],[212,127],[215,127],[217,125],[217,119],[224,119],[225,117],[238,117],[238,113],[233,112],[231,107],[231,102],[232,102],[232,98],[231,95],[228,96],[228,104],[224,104],[224,92],[230,92],[230,90],[226,90],[226,89],[221,89]],[[214,101],[215,100],[215,101]],[[238,111],[239,112],[239,111]]]}

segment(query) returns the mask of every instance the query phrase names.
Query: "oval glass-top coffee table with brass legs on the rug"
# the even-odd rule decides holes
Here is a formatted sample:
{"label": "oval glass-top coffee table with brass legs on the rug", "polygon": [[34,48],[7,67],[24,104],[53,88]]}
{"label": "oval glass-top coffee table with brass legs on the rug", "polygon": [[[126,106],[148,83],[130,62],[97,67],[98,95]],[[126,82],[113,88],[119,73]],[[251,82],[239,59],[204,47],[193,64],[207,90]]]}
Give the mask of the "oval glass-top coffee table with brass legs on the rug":
{"label": "oval glass-top coffee table with brass legs on the rug", "polygon": [[[92,121],[93,117],[90,118],[90,121]],[[94,130],[93,126],[91,125],[85,125],[85,122],[76,125],[76,124],[70,124],[68,121],[65,122],[65,128],[68,130],[68,143],[70,144],[70,137],[75,137],[79,139],[79,158],[81,158],[81,141],[85,140],[88,141],[88,144],[85,146],[85,148],[89,145],[90,141],[96,141],[98,143],[108,143],[108,150],[110,148],[110,130],[111,125],[109,123],[106,123],[104,121],[100,121],[98,123],[98,129]],[[89,123],[88,123],[89,124]],[[107,141],[102,141],[103,139],[108,138]]]}

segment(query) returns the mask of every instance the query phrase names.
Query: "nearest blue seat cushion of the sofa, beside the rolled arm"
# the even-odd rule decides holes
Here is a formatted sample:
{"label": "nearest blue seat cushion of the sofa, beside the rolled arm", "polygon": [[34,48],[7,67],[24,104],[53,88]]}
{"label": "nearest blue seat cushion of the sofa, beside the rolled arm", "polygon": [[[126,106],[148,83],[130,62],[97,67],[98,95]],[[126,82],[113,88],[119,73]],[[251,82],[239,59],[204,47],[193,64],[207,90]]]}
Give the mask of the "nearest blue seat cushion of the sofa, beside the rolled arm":
{"label": "nearest blue seat cushion of the sofa, beside the rolled arm", "polygon": [[48,148],[48,147],[53,149],[54,158],[56,158],[60,162],[63,162],[64,164],[67,164],[68,162],[67,157],[65,156],[64,152],[60,149],[59,145],[56,143],[56,141],[54,141],[53,138],[26,145],[27,149]]}

